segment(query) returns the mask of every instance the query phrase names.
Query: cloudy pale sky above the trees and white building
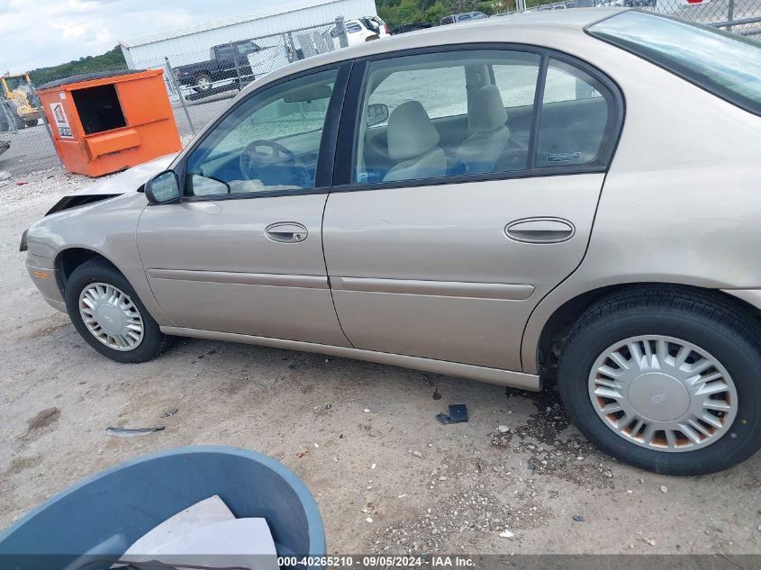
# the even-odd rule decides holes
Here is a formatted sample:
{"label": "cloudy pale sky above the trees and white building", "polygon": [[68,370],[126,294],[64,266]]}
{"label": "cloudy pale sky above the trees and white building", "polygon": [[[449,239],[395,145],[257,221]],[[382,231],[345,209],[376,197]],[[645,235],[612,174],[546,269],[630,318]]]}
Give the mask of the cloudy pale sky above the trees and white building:
{"label": "cloudy pale sky above the trees and white building", "polygon": [[0,74],[99,55],[111,50],[119,40],[248,14],[283,3],[283,0],[0,0]]}

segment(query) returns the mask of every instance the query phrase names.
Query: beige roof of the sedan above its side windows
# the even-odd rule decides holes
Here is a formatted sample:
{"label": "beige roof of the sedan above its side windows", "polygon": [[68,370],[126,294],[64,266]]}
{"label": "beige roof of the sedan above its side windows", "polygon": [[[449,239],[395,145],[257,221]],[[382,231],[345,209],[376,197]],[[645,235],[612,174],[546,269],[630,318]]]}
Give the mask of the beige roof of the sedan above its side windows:
{"label": "beige roof of the sedan above its side windows", "polygon": [[[527,12],[512,14],[503,18],[486,18],[458,23],[457,26],[436,26],[415,32],[403,33],[383,40],[367,41],[358,46],[323,53],[308,59],[294,62],[284,68],[276,69],[247,86],[236,98],[247,95],[258,86],[265,85],[281,77],[307,71],[331,63],[349,59],[382,55],[395,50],[414,50],[435,45],[484,42],[488,38],[509,37],[510,32],[530,31],[540,43],[542,34],[564,30],[566,32],[584,33],[584,28],[606,18],[629,11],[629,8],[599,7],[574,8],[573,10],[552,10],[548,12]],[[508,32],[508,33],[503,33]],[[495,40],[491,40],[495,41]]]}

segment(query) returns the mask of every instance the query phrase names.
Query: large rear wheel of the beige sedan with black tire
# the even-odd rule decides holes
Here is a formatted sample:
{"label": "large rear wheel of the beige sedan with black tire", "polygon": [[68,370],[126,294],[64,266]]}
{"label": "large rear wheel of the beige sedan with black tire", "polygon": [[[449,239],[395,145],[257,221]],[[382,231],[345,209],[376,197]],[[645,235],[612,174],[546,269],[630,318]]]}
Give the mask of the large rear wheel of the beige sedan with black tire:
{"label": "large rear wheel of the beige sedan with black tire", "polygon": [[[682,348],[687,360],[679,365]],[[646,357],[639,360],[638,350]],[[618,358],[603,356],[614,352]],[[621,358],[624,366],[615,364]],[[638,360],[641,367],[633,364]],[[598,366],[606,367],[598,372]],[[719,293],[643,285],[603,298],[570,331],[557,382],[588,439],[648,471],[709,474],[761,448],[761,332],[740,303]],[[606,413],[616,407],[622,410]],[[709,413],[711,424],[697,421],[693,410]],[[678,430],[656,430],[676,424]]]}

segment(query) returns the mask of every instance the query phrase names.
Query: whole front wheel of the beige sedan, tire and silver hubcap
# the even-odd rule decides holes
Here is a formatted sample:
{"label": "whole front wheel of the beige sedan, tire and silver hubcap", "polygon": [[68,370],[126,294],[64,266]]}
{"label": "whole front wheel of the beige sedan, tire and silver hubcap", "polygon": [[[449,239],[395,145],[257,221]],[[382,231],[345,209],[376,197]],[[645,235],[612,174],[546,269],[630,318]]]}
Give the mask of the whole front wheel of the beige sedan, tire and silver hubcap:
{"label": "whole front wheel of the beige sedan, tire and silver hubcap", "polygon": [[117,362],[145,362],[168,344],[127,279],[104,259],[77,267],[66,284],[66,308],[87,344]]}

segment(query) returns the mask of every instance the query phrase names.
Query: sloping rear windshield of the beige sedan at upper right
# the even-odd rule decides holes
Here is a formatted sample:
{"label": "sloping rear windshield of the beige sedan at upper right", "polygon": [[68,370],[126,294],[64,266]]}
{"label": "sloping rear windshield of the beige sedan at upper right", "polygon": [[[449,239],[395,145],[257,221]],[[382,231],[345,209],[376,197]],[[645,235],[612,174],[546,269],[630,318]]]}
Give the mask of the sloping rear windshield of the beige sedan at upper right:
{"label": "sloping rear windshield of the beige sedan at upper right", "polygon": [[641,12],[617,14],[588,32],[761,114],[761,42]]}

